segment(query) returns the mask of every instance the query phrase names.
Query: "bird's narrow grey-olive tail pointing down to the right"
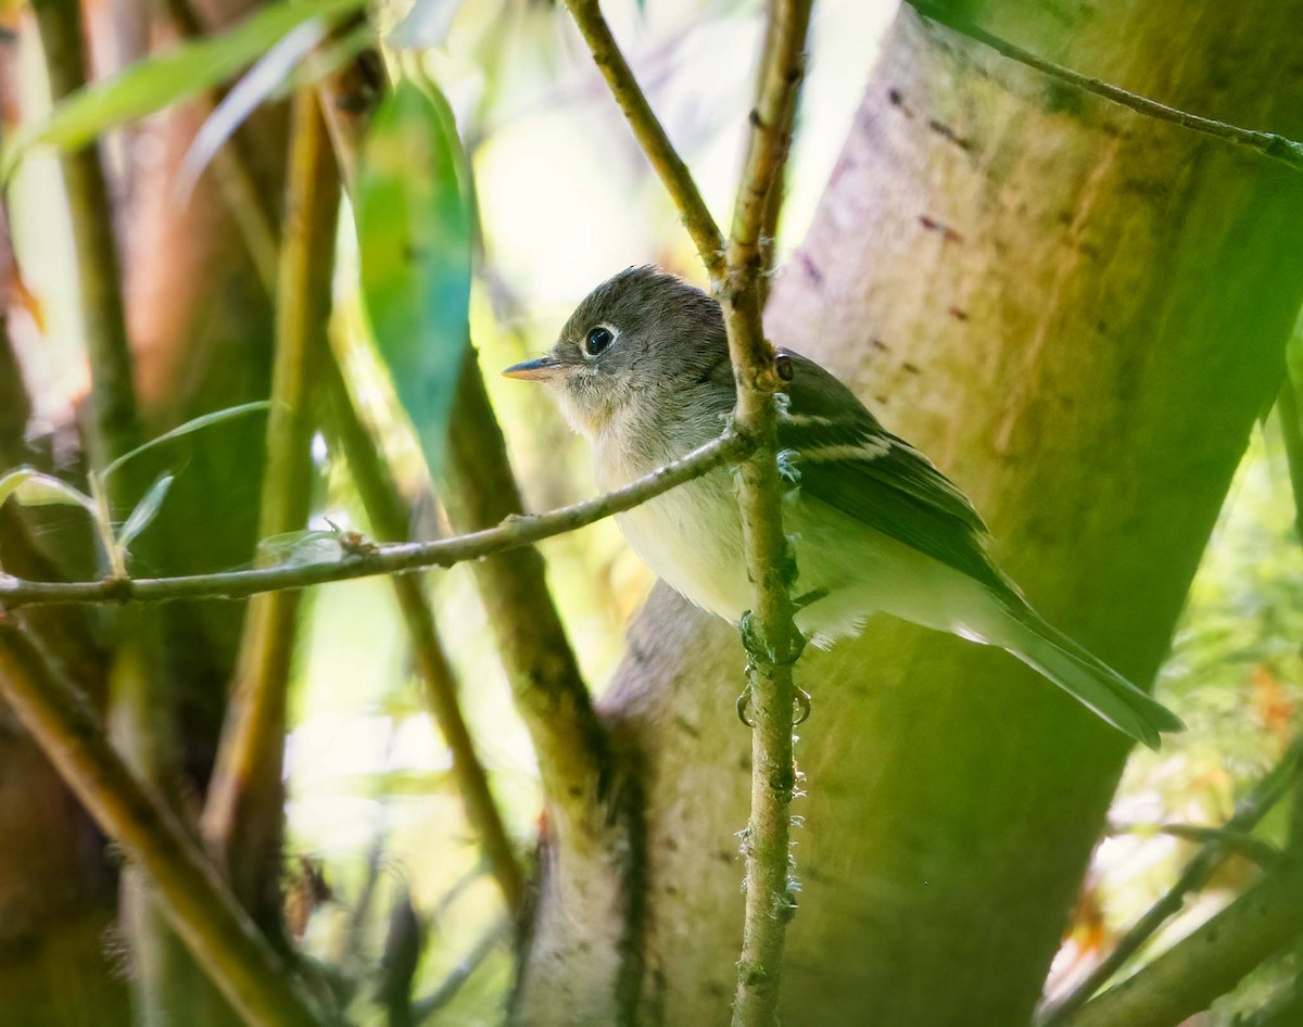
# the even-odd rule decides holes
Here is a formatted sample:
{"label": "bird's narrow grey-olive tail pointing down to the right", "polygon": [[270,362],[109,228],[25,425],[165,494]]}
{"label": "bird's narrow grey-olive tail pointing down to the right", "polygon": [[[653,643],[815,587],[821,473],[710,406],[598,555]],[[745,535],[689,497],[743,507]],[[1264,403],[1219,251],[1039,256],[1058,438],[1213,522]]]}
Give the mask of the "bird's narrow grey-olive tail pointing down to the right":
{"label": "bird's narrow grey-olive tail pointing down to the right", "polygon": [[1005,631],[999,632],[1002,637],[997,644],[1123,734],[1156,749],[1160,732],[1186,730],[1177,714],[1046,623],[1031,607],[1006,607],[1005,613]]}

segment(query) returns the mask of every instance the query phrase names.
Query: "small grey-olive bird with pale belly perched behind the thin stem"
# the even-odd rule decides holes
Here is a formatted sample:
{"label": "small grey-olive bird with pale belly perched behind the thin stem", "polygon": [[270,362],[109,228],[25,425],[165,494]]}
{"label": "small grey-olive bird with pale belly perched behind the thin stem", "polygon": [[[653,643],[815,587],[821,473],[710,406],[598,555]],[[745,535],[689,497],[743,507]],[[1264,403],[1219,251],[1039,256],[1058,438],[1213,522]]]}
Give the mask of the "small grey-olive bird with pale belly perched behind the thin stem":
{"label": "small grey-olive bird with pale belly perched behind the thin stem", "polygon": [[[788,349],[778,446],[797,484],[784,504],[803,597],[796,627],[816,644],[869,614],[998,645],[1101,718],[1157,748],[1181,721],[1048,624],[992,562],[967,497],[890,434],[844,384]],[[579,305],[551,351],[503,371],[547,383],[593,446],[603,490],[675,460],[724,429],[736,391],[719,305],[654,267],[632,267]],[[732,623],[752,601],[727,468],[615,515],[629,545],[688,600]]]}

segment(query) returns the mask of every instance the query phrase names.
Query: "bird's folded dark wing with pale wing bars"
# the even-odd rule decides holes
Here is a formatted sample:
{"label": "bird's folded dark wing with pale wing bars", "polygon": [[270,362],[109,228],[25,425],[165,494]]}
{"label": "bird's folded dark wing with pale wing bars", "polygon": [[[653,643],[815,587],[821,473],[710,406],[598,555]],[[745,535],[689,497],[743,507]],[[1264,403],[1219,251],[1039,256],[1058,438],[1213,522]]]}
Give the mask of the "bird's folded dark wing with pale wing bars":
{"label": "bird's folded dark wing with pale wing bars", "polygon": [[1016,596],[986,554],[986,525],[968,498],[921,452],[878,424],[814,361],[792,362],[778,446],[795,454],[803,497],[812,497],[993,589]]}

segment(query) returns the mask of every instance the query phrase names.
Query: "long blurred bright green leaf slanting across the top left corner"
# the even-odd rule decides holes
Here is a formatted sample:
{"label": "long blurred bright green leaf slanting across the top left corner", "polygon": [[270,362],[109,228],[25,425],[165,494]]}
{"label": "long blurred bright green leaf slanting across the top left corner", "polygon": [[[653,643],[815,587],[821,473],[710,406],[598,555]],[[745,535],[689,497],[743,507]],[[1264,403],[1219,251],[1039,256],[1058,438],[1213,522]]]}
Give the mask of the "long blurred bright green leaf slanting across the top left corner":
{"label": "long blurred bright green leaf slanting across the top left corner", "polygon": [[281,0],[258,8],[224,33],[177,43],[56,104],[40,123],[20,129],[0,154],[8,179],[23,151],[38,143],[74,150],[106,129],[162,111],[231,78],[310,18],[334,20],[365,0]]}

